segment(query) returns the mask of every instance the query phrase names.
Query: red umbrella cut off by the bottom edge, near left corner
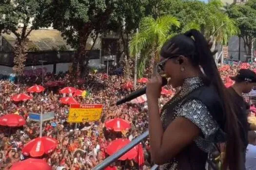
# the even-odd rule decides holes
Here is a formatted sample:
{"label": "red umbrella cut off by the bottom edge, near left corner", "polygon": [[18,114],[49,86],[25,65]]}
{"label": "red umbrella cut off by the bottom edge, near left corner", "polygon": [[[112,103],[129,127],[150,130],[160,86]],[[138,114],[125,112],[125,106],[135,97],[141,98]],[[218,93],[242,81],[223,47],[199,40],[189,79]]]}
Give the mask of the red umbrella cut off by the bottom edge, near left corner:
{"label": "red umbrella cut off by the bottom edge, near left corner", "polygon": [[48,165],[42,159],[29,158],[24,161],[13,164],[10,170],[51,170],[51,166]]}

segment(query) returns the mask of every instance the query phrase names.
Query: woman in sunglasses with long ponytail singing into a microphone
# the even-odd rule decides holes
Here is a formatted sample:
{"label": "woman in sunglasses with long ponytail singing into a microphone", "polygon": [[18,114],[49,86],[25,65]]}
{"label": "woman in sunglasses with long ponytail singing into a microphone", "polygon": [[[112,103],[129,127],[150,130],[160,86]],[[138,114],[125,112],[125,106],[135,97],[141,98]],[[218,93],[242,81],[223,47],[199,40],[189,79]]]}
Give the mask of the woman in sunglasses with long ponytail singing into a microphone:
{"label": "woman in sunglasses with long ponytail singing into a microphone", "polygon": [[224,170],[243,170],[239,123],[204,36],[196,30],[168,40],[159,68],[181,87],[159,113],[162,78],[147,84],[149,136],[160,170],[205,170],[214,143],[226,142]]}

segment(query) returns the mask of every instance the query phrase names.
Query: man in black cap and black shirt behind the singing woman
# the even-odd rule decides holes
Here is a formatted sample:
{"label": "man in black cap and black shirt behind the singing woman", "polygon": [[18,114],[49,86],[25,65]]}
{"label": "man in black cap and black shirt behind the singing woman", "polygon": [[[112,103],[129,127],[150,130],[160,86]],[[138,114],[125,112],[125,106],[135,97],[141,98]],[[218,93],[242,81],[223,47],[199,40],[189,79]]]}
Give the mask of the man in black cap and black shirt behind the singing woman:
{"label": "man in black cap and black shirt behind the singing woman", "polygon": [[256,86],[256,73],[250,69],[240,69],[236,76],[230,77],[235,81],[235,84],[228,88],[233,102],[236,103],[236,109],[240,110],[237,115],[240,121],[240,135],[243,142],[243,159],[245,161],[245,152],[248,145],[248,131],[250,130],[250,124],[247,121],[247,110],[250,109],[250,105],[244,101],[242,94],[249,93],[254,86]]}

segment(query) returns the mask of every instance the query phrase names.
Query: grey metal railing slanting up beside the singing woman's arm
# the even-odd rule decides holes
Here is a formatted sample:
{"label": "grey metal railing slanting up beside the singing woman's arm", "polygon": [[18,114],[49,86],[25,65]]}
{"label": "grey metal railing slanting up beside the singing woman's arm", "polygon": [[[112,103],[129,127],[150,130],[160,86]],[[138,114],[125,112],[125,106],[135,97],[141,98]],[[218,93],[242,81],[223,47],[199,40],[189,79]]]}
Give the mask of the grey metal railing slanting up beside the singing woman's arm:
{"label": "grey metal railing slanting up beside the singing woman's arm", "polygon": [[[132,140],[128,145],[120,149],[117,153],[114,153],[113,155],[107,157],[103,162],[98,164],[96,167],[93,168],[93,170],[104,170],[107,166],[109,166],[111,163],[115,162],[119,157],[130,151],[133,147],[139,144],[142,140],[144,140],[149,135],[149,132],[146,131],[140,136],[136,137],[134,140]],[[158,165],[154,165],[151,170],[157,170]]]}

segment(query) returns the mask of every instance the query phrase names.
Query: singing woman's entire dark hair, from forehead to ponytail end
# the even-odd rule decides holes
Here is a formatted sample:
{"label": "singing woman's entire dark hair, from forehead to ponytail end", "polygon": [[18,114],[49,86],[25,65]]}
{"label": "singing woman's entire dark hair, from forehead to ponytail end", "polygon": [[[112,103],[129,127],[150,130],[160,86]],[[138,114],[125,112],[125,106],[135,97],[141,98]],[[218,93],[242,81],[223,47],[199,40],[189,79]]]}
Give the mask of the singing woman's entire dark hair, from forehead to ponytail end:
{"label": "singing woman's entire dark hair, from forehead to ponytail end", "polygon": [[178,48],[175,54],[190,58],[195,67],[200,66],[204,71],[206,80],[208,80],[207,82],[216,88],[224,110],[223,118],[217,119],[223,122],[220,126],[227,133],[223,170],[239,170],[241,164],[241,138],[236,116],[237,111],[236,107],[234,107],[234,102],[230,100],[228,90],[220,78],[207,40],[197,30],[178,34],[166,42],[161,50],[161,56],[168,57],[172,51],[171,47],[173,44]]}

